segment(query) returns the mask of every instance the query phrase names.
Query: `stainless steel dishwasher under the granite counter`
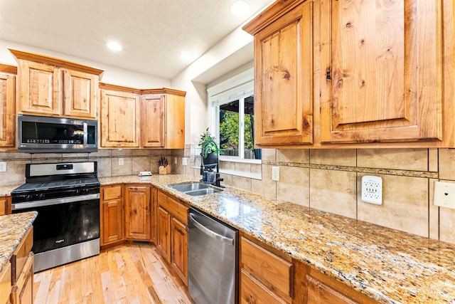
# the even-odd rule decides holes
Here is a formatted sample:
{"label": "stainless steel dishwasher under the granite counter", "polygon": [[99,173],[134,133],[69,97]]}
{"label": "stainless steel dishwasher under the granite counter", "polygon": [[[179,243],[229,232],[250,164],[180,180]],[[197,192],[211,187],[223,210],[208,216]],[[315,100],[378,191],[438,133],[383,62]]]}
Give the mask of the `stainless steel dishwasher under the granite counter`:
{"label": "stainless steel dishwasher under the granite counter", "polygon": [[197,304],[235,304],[238,231],[193,207],[188,212],[188,291]]}

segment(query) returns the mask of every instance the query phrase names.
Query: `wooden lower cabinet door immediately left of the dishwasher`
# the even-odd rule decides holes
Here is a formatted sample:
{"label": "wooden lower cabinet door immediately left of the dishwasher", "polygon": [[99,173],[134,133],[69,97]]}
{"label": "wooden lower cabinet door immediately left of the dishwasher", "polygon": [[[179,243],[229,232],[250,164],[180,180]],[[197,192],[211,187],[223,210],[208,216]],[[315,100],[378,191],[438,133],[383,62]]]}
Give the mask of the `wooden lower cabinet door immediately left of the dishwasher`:
{"label": "wooden lower cabinet door immediately left of the dishwasher", "polygon": [[188,285],[188,232],[178,219],[171,221],[171,265],[185,285]]}

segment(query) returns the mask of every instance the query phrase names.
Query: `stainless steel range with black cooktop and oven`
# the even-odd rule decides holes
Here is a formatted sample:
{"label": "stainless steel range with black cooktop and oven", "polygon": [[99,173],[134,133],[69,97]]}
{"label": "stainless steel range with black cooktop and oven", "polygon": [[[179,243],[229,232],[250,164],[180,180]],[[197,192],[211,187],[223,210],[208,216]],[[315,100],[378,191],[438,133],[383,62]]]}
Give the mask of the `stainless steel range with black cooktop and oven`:
{"label": "stainless steel range with black cooktop and oven", "polygon": [[97,162],[26,164],[26,184],[11,192],[11,203],[14,214],[38,211],[34,272],[100,253]]}

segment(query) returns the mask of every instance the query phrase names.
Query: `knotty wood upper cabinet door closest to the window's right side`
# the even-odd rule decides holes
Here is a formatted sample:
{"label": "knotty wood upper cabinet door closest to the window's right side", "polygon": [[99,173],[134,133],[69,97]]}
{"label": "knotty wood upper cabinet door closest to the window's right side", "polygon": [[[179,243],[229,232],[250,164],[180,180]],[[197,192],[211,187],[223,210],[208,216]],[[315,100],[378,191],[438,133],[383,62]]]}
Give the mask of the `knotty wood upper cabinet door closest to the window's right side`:
{"label": "knotty wood upper cabinet door closest to the window's right side", "polygon": [[306,1],[255,35],[255,144],[313,142],[312,19]]}

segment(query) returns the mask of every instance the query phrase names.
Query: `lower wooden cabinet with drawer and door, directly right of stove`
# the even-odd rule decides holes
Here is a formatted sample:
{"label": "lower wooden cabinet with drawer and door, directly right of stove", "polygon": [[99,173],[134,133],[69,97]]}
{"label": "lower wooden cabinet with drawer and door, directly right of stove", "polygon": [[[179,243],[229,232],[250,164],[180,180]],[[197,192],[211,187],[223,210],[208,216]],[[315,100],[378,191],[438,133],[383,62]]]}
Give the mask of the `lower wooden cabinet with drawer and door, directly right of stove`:
{"label": "lower wooden cabinet with drawer and door, directly right of stove", "polygon": [[124,216],[122,185],[102,186],[100,189],[101,246],[123,241]]}

